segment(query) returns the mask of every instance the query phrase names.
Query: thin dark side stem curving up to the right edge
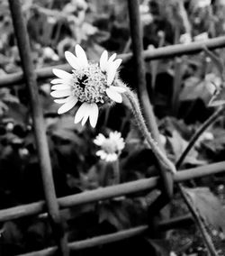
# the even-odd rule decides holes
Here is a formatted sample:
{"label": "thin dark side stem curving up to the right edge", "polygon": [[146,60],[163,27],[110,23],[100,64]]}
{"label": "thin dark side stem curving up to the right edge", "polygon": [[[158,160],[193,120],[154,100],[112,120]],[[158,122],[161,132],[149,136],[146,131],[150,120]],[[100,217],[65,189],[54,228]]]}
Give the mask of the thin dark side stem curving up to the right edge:
{"label": "thin dark side stem curving up to the right edge", "polygon": [[180,168],[180,166],[182,165],[182,163],[183,163],[185,157],[187,156],[188,152],[193,148],[194,143],[197,142],[198,138],[202,135],[202,133],[212,123],[214,123],[217,120],[217,118],[220,116],[220,114],[222,114],[222,112],[224,110],[225,110],[225,105],[220,106],[214,114],[211,114],[211,116],[204,123],[202,123],[202,126],[196,131],[196,133],[193,134],[193,137],[191,138],[191,141],[188,143],[184,152],[182,153],[179,160],[177,160],[177,162],[175,164],[176,169]]}

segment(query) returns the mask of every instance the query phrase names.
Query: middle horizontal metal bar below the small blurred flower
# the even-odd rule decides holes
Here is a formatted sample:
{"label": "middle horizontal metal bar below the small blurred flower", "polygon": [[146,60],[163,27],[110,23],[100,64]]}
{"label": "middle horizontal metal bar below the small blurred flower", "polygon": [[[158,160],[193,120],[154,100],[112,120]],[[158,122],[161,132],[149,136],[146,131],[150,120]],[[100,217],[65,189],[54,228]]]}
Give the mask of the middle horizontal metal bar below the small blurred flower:
{"label": "middle horizontal metal bar below the small blurred flower", "polygon": [[[175,173],[175,182],[182,182],[192,178],[202,178],[225,171],[225,161],[213,163],[193,169],[184,169]],[[120,197],[138,192],[148,191],[157,187],[158,178],[143,178],[111,187],[98,188],[82,192],[73,196],[58,198],[60,208],[79,206],[82,204],[94,203],[98,200],[106,200],[112,197]],[[39,215],[46,211],[43,201],[25,206],[15,206],[0,210],[0,222],[17,219],[29,215]]]}

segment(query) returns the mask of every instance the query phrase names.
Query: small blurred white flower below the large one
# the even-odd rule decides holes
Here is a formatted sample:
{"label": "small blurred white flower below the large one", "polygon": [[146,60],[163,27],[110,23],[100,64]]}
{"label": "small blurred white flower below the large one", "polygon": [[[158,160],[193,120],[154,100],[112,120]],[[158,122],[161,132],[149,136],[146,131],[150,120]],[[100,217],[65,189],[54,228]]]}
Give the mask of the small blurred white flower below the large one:
{"label": "small blurred white flower below the large one", "polygon": [[101,147],[100,151],[96,151],[96,155],[105,161],[117,160],[125,146],[121,133],[118,132],[111,132],[108,138],[99,133],[94,139],[94,144]]}

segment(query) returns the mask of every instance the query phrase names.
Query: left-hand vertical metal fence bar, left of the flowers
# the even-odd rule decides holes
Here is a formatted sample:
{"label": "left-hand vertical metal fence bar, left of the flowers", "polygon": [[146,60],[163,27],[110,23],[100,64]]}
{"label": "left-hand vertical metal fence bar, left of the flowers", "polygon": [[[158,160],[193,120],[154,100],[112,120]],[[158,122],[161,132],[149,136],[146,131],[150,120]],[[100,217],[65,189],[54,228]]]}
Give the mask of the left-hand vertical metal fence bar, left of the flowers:
{"label": "left-hand vertical metal fence bar, left of the flowers", "polygon": [[19,0],[9,0],[11,14],[14,23],[14,32],[22,60],[24,78],[29,88],[31,97],[31,114],[34,125],[34,134],[40,160],[41,177],[44,187],[46,204],[48,207],[49,218],[52,223],[53,233],[58,242],[59,253],[63,256],[68,255],[67,238],[61,222],[58,202],[52,178],[51,164],[49,158],[49,146],[45,132],[42,108],[36,81],[36,75],[31,59],[31,48],[26,25],[23,20],[22,7]]}

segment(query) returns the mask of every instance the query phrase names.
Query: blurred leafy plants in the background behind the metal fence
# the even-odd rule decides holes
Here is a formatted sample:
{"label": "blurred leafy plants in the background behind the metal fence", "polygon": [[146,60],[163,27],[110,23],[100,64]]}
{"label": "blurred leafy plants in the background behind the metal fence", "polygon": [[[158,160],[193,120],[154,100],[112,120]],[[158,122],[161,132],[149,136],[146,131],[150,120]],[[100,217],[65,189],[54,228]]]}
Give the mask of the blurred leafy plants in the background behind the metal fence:
{"label": "blurred leafy plants in the background behind the metal fence", "polygon": [[[36,69],[65,63],[65,50],[74,52],[76,43],[81,44],[88,59],[93,60],[99,59],[104,49],[118,54],[131,50],[126,1],[22,2]],[[191,41],[203,43],[207,38],[224,35],[223,0],[142,0],[139,11],[145,50]],[[0,33],[0,74],[4,77],[21,71],[10,12],[4,0],[0,1]],[[214,50],[213,54],[225,59],[223,49]],[[137,86],[132,61],[121,65],[122,80],[135,90]],[[214,85],[220,87],[222,84],[220,72],[205,51],[198,55],[146,62],[146,71],[148,94],[157,115],[161,140],[170,160],[176,162],[193,133],[217,108],[209,107],[208,104],[214,93]],[[112,163],[99,160],[95,155],[98,149],[93,140],[98,133],[107,137],[111,132],[119,131],[125,140],[125,148],[119,158],[121,182],[157,174],[157,160],[137,132],[126,105],[115,105],[112,109],[103,110],[93,130],[89,126],[74,124],[74,110],[60,116],[57,114],[58,105],[49,96],[49,80],[39,81],[39,86],[58,197],[111,185]],[[224,160],[224,128],[223,115],[202,133],[184,159],[181,169]],[[24,84],[0,88],[0,148],[0,208],[43,199],[29,98]],[[214,195],[220,196],[209,197],[211,192],[206,189],[201,190],[199,197],[199,190],[196,194],[191,190],[190,195],[197,198],[197,202],[202,202],[203,197],[209,204],[224,204],[222,174],[198,178],[187,186],[190,189],[210,187]],[[115,198],[110,202],[63,211],[69,241],[145,224],[148,205],[156,195],[150,193],[147,197],[142,194],[136,196]],[[211,216],[207,218],[207,223],[216,226],[219,231],[224,230],[222,217],[215,224],[218,218],[218,215],[213,214],[215,209],[207,209],[204,205],[202,209],[202,215]],[[175,197],[171,215],[186,212],[180,197]],[[49,224],[43,215],[4,223],[1,233],[0,250],[3,255],[38,250],[53,242]],[[219,244],[220,255],[224,255],[224,236],[220,232],[214,232],[214,236]],[[172,231],[167,238],[170,241],[167,250],[166,241],[159,246],[139,238],[135,240],[135,247],[147,250],[152,250],[149,249],[152,247],[162,248],[158,255],[169,255],[163,254],[165,250],[166,253],[173,250],[176,255],[206,255],[200,235],[194,227],[190,231]],[[126,242],[120,245],[126,248]],[[137,251],[134,246],[129,246],[130,253]],[[102,253],[100,255],[116,253],[111,245],[103,246],[102,250],[94,250]],[[89,255],[90,251],[83,253],[81,255]]]}

